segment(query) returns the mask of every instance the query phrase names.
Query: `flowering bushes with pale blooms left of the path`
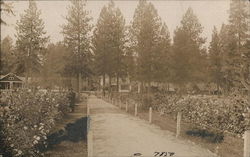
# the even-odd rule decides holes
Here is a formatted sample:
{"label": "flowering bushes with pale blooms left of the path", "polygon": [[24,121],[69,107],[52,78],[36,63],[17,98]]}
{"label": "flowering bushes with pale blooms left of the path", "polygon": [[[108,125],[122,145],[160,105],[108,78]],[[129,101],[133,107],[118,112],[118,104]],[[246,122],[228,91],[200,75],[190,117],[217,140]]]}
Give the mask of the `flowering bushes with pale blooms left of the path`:
{"label": "flowering bushes with pale blooms left of the path", "polygon": [[66,93],[19,90],[3,95],[0,119],[7,151],[13,156],[42,156],[38,146],[46,145],[55,121],[69,111]]}

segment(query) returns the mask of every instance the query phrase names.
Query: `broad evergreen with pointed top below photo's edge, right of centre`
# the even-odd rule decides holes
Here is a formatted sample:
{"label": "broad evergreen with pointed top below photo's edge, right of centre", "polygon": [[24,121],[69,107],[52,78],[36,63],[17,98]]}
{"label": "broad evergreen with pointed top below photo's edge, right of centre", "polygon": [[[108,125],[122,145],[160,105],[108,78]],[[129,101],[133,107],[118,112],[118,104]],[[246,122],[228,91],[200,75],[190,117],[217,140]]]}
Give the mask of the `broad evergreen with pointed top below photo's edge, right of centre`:
{"label": "broad evergreen with pointed top below photo's edge, right of centre", "polygon": [[189,8],[174,32],[172,59],[172,81],[184,88],[186,83],[204,81],[206,69],[205,39],[201,37],[203,27]]}

